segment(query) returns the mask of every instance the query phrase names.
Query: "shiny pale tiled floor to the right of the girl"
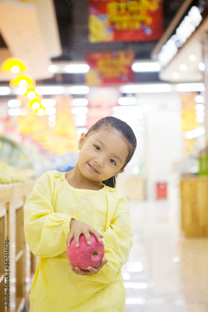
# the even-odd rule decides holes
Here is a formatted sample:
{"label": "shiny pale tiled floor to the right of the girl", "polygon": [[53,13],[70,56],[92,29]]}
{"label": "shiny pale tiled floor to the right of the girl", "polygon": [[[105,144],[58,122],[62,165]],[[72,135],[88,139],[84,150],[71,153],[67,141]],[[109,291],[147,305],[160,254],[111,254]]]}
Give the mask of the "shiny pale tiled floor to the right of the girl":
{"label": "shiny pale tiled floor to the right of the girl", "polygon": [[166,200],[131,209],[125,312],[208,312],[208,238],[185,238],[176,209]]}

